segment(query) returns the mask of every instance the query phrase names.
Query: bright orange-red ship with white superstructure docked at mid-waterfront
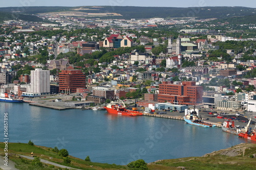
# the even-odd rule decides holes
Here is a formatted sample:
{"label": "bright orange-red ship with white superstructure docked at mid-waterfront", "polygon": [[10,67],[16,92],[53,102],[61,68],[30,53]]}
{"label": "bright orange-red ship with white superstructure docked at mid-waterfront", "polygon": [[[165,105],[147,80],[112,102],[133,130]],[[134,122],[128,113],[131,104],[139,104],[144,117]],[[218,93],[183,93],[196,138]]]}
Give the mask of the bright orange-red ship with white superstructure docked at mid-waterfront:
{"label": "bright orange-red ship with white superstructure docked at mid-waterfront", "polygon": [[122,105],[120,105],[119,102],[111,102],[108,105],[104,106],[103,108],[106,109],[106,111],[111,114],[119,114],[119,115],[126,115],[126,116],[141,116],[141,115],[143,115],[143,113],[141,113],[139,111],[127,110],[125,108],[125,105],[123,102],[122,102]]}

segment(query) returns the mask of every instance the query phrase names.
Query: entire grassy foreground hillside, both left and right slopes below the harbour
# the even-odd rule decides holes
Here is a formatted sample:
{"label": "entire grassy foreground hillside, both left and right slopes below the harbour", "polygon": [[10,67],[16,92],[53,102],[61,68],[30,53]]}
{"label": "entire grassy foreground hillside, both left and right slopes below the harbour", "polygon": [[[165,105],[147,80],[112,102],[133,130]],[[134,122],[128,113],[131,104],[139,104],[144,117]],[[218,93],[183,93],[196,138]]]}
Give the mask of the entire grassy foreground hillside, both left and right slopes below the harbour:
{"label": "entire grassy foreground hillside, both left and right slopes below the harbour", "polygon": [[[0,143],[0,155],[4,156],[5,145]],[[111,165],[106,163],[96,163],[90,161],[84,161],[73,156],[69,156],[71,164],[62,163],[63,158],[57,153],[53,152],[51,148],[32,146],[26,143],[9,143],[8,153],[9,159],[14,161],[18,169],[58,169],[58,167],[52,168],[50,164],[43,164],[41,167],[35,167],[32,165],[32,160],[22,158],[19,155],[30,156],[33,151],[34,157],[39,157],[41,159],[48,160],[50,162],[55,162],[58,164],[70,166],[79,169],[136,169],[129,168],[127,166],[121,165]],[[188,151],[189,152],[189,151]],[[84,155],[86,157],[86,155]],[[51,158],[51,159],[50,159]],[[188,157],[179,159],[169,159],[169,160],[158,160],[152,163],[148,163],[148,169],[180,169],[177,167],[184,167],[189,170],[251,170],[256,167],[256,144],[252,143],[241,143],[231,148],[212,152],[206,154],[202,157]]]}

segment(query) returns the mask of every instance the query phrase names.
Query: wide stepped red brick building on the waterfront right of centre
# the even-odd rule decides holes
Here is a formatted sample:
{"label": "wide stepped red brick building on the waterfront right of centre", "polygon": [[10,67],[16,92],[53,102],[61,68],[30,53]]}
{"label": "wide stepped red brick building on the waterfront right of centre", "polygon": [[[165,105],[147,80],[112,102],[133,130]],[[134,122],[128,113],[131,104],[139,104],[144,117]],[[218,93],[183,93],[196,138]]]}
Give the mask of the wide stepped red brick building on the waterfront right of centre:
{"label": "wide stepped red brick building on the waterfront right of centre", "polygon": [[170,102],[179,105],[194,105],[202,103],[203,87],[196,86],[196,82],[187,81],[182,84],[159,85],[158,102]]}

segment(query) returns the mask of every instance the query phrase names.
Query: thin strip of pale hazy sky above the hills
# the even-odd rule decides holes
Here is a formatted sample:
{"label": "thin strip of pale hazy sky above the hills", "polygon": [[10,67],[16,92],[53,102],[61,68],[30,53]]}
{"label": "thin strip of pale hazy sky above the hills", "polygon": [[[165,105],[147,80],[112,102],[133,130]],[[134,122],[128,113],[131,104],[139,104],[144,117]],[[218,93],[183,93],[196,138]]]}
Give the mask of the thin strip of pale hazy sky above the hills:
{"label": "thin strip of pale hazy sky above the hills", "polygon": [[140,6],[140,7],[205,7],[242,6],[256,8],[255,0],[0,0],[0,7],[26,6]]}

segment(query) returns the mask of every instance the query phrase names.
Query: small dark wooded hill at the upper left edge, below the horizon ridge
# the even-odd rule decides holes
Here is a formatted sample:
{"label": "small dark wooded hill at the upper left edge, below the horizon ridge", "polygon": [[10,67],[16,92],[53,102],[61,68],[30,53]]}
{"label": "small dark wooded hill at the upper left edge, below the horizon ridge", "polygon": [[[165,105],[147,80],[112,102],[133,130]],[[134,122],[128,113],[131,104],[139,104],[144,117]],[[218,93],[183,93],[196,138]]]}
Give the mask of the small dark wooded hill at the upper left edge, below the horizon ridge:
{"label": "small dark wooded hill at the upper left edge, below the horizon ridge", "polygon": [[3,22],[4,20],[17,20],[17,19],[24,20],[24,21],[44,22],[44,19],[41,19],[34,15],[0,12],[0,22]]}

